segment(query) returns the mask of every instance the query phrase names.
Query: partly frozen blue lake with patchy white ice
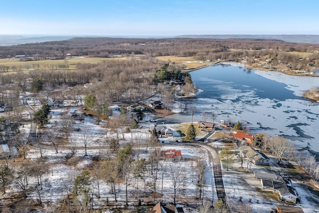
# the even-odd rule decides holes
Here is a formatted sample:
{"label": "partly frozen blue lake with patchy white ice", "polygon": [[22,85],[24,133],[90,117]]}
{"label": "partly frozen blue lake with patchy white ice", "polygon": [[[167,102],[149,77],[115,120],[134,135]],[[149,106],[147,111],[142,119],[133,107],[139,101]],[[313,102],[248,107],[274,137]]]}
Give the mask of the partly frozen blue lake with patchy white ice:
{"label": "partly frozen blue lake with patchy white ice", "polygon": [[[194,122],[203,120],[201,112],[213,112],[218,115],[215,122],[240,121],[253,134],[284,136],[298,147],[319,152],[319,103],[302,97],[302,91],[319,86],[319,77],[290,76],[228,64],[190,74],[200,92],[195,99],[182,101],[187,107],[196,107]],[[190,120],[188,113],[178,113],[161,122]],[[212,121],[211,117],[206,121]]]}

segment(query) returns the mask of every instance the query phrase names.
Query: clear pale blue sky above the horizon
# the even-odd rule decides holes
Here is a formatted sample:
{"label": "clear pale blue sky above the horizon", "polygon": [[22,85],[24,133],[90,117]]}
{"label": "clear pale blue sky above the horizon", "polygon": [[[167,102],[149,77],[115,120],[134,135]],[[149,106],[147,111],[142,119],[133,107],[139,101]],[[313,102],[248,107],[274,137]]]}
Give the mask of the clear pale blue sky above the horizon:
{"label": "clear pale blue sky above the horizon", "polygon": [[319,0],[1,0],[0,34],[319,34]]}

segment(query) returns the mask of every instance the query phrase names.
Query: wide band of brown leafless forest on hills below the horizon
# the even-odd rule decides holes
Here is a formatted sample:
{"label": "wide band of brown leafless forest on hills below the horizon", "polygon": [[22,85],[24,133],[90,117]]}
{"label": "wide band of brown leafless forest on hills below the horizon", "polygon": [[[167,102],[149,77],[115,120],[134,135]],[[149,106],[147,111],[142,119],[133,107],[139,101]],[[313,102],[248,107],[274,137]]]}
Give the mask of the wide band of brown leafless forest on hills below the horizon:
{"label": "wide band of brown leafless forest on hills below the horizon", "polygon": [[[36,60],[61,59],[70,55],[110,57],[114,54],[145,54],[149,56],[177,55],[197,56],[198,59],[231,58],[225,57],[240,50],[311,52],[319,49],[319,44],[291,43],[271,39],[209,39],[209,38],[73,38],[65,41],[50,41],[36,44],[2,46],[0,55],[32,55]],[[268,50],[268,51],[265,51]]]}

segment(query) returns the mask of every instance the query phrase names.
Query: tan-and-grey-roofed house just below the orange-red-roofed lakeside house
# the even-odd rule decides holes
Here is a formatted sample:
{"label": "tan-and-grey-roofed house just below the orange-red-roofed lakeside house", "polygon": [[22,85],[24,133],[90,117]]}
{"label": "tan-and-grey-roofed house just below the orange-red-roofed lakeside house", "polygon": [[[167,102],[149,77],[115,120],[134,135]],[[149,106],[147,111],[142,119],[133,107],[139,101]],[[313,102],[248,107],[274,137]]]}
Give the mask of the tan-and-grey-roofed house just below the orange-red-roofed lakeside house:
{"label": "tan-and-grey-roofed house just below the orange-red-roofed lakeside house", "polygon": [[243,146],[239,150],[246,158],[250,158],[255,165],[269,166],[270,164],[270,159],[264,153],[250,146]]}

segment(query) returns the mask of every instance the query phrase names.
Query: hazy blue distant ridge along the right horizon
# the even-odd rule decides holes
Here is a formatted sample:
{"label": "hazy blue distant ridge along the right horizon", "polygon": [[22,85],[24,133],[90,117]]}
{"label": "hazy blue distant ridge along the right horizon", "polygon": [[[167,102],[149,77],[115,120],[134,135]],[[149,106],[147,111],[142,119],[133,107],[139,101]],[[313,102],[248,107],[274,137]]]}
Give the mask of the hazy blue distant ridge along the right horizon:
{"label": "hazy blue distant ridge along the right horizon", "polygon": [[175,38],[252,38],[252,39],[276,39],[296,43],[319,43],[319,35],[178,35]]}

